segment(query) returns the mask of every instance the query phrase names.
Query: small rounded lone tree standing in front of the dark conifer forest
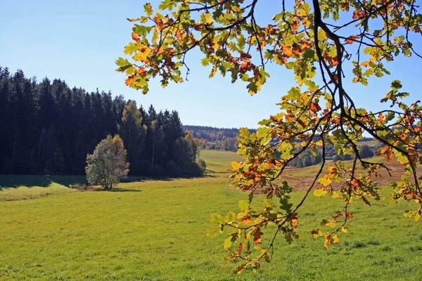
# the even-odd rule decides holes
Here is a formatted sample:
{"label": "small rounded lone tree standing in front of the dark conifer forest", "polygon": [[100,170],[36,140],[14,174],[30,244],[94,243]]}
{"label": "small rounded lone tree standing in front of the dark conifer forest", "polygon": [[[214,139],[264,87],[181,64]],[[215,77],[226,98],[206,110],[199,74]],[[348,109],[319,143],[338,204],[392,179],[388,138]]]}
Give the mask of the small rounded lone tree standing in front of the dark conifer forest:
{"label": "small rounded lone tree standing in front of the dark conifer forest", "polygon": [[90,185],[101,185],[105,190],[113,188],[119,178],[127,176],[129,163],[119,135],[107,136],[96,146],[94,153],[87,155],[87,180]]}

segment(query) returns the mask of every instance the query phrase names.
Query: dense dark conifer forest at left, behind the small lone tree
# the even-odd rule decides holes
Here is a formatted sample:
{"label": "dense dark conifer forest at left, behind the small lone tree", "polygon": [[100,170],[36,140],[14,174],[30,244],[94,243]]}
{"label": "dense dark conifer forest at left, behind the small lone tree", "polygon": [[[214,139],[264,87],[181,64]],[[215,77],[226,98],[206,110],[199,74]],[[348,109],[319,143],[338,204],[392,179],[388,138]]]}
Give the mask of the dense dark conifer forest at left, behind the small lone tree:
{"label": "dense dark conifer forest at left, behind the small lone tree", "polygon": [[129,174],[202,173],[177,111],[146,110],[110,91],[70,89],[60,79],[38,82],[0,67],[0,174],[84,174],[87,154],[115,133],[127,149]]}

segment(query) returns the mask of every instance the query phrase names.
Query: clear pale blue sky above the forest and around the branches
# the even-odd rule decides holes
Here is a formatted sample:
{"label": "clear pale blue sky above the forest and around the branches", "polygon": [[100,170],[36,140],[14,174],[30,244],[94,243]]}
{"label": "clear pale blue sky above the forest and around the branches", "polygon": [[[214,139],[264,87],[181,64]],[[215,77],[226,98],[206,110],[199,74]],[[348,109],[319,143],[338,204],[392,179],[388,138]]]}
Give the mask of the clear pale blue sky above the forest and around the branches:
{"label": "clear pale blue sky above the forest and around the branches", "polygon": [[[274,1],[279,6],[280,1]],[[70,87],[87,91],[96,88],[122,94],[138,105],[157,110],[177,110],[184,124],[218,127],[256,127],[257,122],[279,112],[279,102],[291,86],[293,75],[282,68],[269,66],[271,78],[262,92],[249,96],[244,83],[229,79],[208,79],[210,68],[200,65],[198,53],[188,58],[191,74],[184,84],[170,84],[162,89],[152,81],[150,93],[124,85],[124,74],[115,72],[115,60],[131,41],[132,23],[143,13],[144,1],[4,1],[0,8],[0,65],[11,72],[22,69],[27,77],[64,79]],[[151,1],[153,7],[158,1]],[[269,9],[262,1],[257,13],[271,18],[277,8]],[[421,40],[418,40],[421,43]],[[390,63],[387,79],[376,79],[369,87],[350,84],[357,105],[369,110],[381,109],[379,100],[389,91],[392,79],[402,79],[410,100],[422,99],[422,60],[397,60]]]}

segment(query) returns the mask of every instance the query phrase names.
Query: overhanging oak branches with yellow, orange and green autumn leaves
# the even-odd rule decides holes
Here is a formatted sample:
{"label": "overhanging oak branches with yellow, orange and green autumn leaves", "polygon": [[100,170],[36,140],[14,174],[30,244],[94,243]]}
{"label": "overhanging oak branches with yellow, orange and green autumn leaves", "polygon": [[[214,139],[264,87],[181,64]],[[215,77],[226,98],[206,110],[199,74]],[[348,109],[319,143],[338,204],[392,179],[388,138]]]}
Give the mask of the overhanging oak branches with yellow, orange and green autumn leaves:
{"label": "overhanging oak branches with yellow, orange and green autumn leaves", "polygon": [[[262,261],[269,261],[278,235],[288,243],[298,237],[298,211],[313,188],[319,187],[316,196],[343,202],[340,211],[321,221],[321,230],[312,232],[314,237],[324,237],[325,248],[338,243],[340,230],[347,231],[353,200],[365,204],[379,200],[374,179],[388,167],[361,157],[356,143],[364,134],[384,145],[379,155],[396,158],[403,165],[402,180],[392,184],[391,202],[414,202],[406,216],[416,220],[422,210],[416,170],[422,162],[418,146],[421,105],[404,103],[402,98],[409,93],[395,79],[381,99],[390,107],[380,112],[357,107],[345,87],[346,78],[366,86],[369,78],[390,74],[385,63],[397,57],[422,58],[410,41],[421,35],[422,16],[415,1],[282,1],[282,11],[259,24],[255,19],[258,1],[164,0],[158,6],[164,14],[153,13],[151,4],[145,4],[145,15],[130,20],[135,22],[134,42],[124,53],[132,58],[117,60],[117,71],[128,76],[126,84],[143,93],[148,92],[153,77],[161,77],[162,86],[184,81],[181,70],[189,71],[185,58],[193,48],[203,53],[203,65],[211,65],[210,77],[219,72],[233,82],[244,81],[251,95],[269,78],[267,63],[295,74],[298,85],[281,98],[281,112],[260,122],[256,133],[241,129],[238,153],[243,162],[233,163],[231,177],[234,186],[250,194],[239,202],[241,213],[212,218],[228,235],[224,242],[227,260],[243,262],[236,273],[250,267],[256,270]],[[357,53],[354,60],[352,53]],[[346,65],[352,67],[352,74],[346,72]],[[338,155],[352,155],[352,166],[338,162],[326,168],[328,145]],[[302,200],[293,204],[292,188],[283,181],[286,166],[302,152],[318,148],[320,169]],[[357,171],[359,166],[364,168],[362,173]],[[255,192],[267,199],[254,200]],[[267,242],[264,232],[271,233]]]}

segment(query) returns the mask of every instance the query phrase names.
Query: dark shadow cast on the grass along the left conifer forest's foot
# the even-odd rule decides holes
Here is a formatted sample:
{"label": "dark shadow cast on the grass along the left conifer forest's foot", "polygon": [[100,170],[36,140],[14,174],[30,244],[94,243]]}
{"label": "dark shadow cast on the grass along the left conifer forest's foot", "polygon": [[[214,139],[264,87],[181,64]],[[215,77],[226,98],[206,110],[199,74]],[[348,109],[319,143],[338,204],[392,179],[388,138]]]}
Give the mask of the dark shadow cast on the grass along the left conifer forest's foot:
{"label": "dark shadow cast on the grass along the left conifer forest's foot", "polygon": [[39,176],[39,175],[0,175],[0,190],[3,188],[48,188],[52,183],[58,183],[69,188],[70,185],[79,183],[87,184],[85,176]]}

